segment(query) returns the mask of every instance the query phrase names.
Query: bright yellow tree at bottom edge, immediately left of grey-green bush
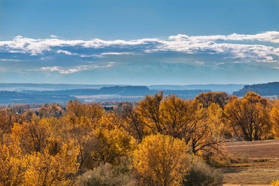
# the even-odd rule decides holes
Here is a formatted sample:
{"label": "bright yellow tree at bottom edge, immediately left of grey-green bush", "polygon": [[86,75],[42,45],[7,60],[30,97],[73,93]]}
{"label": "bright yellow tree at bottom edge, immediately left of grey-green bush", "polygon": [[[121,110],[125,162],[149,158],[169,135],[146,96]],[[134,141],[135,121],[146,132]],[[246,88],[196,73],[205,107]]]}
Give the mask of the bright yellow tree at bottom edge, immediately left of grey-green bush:
{"label": "bright yellow tree at bottom edge, immediately left of grey-green bush", "polygon": [[63,144],[60,152],[50,155],[32,153],[27,155],[27,170],[24,173],[24,185],[70,185],[77,173],[78,149],[73,143]]}

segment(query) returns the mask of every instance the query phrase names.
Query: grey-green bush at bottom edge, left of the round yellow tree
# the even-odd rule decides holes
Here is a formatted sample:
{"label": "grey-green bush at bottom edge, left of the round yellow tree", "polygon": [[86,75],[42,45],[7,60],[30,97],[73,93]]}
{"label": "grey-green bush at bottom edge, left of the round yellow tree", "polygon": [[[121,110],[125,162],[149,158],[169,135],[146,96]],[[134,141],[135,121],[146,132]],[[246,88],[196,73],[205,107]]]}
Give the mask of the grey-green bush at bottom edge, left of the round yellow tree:
{"label": "grey-green bush at bottom edge, left of the round yellow tree", "polygon": [[135,181],[128,173],[115,171],[111,164],[100,164],[93,170],[86,171],[77,178],[77,185],[84,186],[110,186],[135,185]]}

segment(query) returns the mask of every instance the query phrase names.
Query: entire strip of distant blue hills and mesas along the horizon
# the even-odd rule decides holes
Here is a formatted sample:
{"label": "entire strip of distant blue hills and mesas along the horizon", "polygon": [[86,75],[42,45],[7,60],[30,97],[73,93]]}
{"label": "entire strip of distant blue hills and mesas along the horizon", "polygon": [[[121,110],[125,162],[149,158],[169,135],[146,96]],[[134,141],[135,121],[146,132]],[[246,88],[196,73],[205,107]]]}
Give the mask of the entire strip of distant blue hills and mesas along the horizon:
{"label": "entire strip of distant blue hills and mesas along the horizon", "polygon": [[[240,89],[240,90],[239,90]],[[134,101],[144,95],[154,95],[164,91],[165,95],[178,95],[179,98],[195,98],[199,93],[225,91],[239,97],[248,91],[262,96],[279,95],[279,82],[268,84],[204,84],[204,85],[83,85],[83,84],[0,84],[0,104],[23,103],[66,103],[69,100],[98,102],[107,100]],[[274,97],[274,96],[273,96]],[[274,97],[278,98],[278,96]],[[273,98],[273,99],[274,99]]]}

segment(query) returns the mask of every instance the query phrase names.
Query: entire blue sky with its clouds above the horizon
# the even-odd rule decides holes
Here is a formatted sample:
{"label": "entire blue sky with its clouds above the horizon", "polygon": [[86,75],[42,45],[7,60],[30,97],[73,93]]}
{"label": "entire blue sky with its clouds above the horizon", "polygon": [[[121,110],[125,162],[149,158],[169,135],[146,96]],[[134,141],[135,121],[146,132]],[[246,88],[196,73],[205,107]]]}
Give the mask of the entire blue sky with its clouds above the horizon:
{"label": "entire blue sky with its clouds above the horizon", "polygon": [[278,10],[278,0],[0,0],[0,82],[278,82]]}

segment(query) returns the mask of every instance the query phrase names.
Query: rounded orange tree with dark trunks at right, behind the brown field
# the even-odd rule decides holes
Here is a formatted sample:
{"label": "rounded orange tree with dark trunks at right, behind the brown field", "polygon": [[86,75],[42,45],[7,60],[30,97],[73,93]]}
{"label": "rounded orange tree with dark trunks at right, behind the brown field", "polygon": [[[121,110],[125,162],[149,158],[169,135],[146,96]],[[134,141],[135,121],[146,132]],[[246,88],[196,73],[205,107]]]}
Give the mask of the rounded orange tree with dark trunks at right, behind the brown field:
{"label": "rounded orange tree with dark trunks at right, behind the brown field", "polygon": [[242,99],[227,103],[224,122],[236,137],[243,137],[246,141],[263,139],[270,128],[269,104],[269,100],[257,93],[248,92]]}

